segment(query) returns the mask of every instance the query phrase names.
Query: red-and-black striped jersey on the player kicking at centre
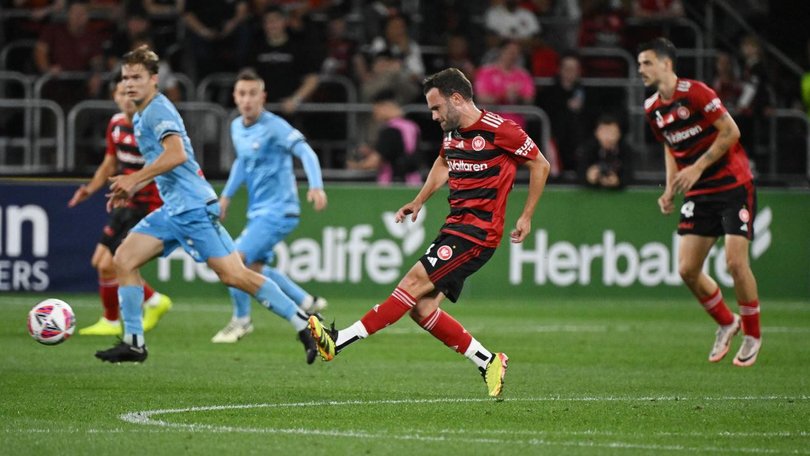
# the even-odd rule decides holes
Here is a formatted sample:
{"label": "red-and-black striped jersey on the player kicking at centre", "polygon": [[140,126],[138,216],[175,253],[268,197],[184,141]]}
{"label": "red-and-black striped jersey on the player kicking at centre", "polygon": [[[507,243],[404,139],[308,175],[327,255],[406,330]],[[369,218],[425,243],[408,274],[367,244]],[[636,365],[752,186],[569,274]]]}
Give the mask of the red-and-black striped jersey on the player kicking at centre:
{"label": "red-and-black striped jersey on the player kicking at centre", "polygon": [[450,187],[450,214],[441,231],[497,247],[517,167],[537,158],[540,149],[513,121],[482,111],[473,125],[447,132],[439,154]]}

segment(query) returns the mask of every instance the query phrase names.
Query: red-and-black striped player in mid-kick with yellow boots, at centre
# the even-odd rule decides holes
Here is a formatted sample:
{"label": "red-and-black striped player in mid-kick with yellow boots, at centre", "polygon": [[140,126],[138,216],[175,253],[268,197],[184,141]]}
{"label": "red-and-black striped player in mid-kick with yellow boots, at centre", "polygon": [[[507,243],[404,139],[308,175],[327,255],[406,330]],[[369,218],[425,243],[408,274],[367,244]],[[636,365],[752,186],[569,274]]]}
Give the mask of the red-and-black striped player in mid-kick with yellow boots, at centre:
{"label": "red-and-black striped player in mid-kick with yellow boots, at centre", "polygon": [[517,124],[478,109],[470,81],[449,68],[425,80],[424,93],[433,120],[444,131],[439,157],[413,201],[402,206],[397,222],[416,220],[425,202],[448,183],[450,214],[427,252],[383,303],[340,331],[310,318],[321,357],[329,361],[349,344],[395,323],[406,313],[452,350],[479,368],[489,395],[500,397],[508,357],[493,353],[439,308],[445,297],[455,302],[464,280],[489,260],[503,236],[506,200],[518,166],[529,170],[529,194],[511,232],[522,242],[545,187],[549,163]]}

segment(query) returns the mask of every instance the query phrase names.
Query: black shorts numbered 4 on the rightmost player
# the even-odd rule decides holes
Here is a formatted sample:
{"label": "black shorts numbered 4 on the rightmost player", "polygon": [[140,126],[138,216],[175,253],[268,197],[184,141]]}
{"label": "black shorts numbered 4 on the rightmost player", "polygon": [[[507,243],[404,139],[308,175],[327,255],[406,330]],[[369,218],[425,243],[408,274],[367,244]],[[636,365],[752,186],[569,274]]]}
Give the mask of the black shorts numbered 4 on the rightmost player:
{"label": "black shorts numbered 4 on the rightmost player", "polygon": [[725,192],[687,196],[681,206],[678,234],[734,234],[753,239],[756,212],[757,193],[750,182]]}

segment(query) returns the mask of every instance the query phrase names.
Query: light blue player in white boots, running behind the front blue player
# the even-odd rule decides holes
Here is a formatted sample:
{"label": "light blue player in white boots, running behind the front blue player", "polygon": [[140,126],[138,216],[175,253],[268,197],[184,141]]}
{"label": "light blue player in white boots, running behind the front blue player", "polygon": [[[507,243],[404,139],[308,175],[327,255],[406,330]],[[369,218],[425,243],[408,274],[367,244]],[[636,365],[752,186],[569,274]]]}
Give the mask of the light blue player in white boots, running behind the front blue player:
{"label": "light blue player in white boots, running behind the front blue player", "polygon": [[[239,117],[231,123],[236,161],[219,198],[220,219],[227,215],[231,198],[242,185],[247,187],[247,225],[236,239],[236,250],[248,268],[273,280],[298,307],[315,314],[326,300],[312,296],[282,272],[271,268],[273,247],[298,226],[301,212],[293,173],[293,156],[301,160],[307,175],[307,200],[316,211],[326,207],[318,156],[304,135],[286,120],[264,110],[267,99],[264,81],[253,70],[236,78],[233,99]],[[211,341],[234,343],[253,331],[250,295],[230,288],[233,317]]]}

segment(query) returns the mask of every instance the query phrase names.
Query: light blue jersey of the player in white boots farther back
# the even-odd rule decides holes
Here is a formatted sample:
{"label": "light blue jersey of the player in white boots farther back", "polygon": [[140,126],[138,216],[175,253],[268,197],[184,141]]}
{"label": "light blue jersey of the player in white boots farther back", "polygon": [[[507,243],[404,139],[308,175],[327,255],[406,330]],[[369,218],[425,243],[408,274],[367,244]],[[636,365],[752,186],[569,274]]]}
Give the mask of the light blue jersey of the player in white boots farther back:
{"label": "light blue jersey of the player in white boots farther back", "polygon": [[301,132],[283,118],[264,111],[253,125],[246,127],[239,116],[231,123],[231,138],[236,160],[222,196],[232,198],[245,184],[248,219],[300,214],[293,156],[301,160],[309,188],[323,188],[318,156]]}

